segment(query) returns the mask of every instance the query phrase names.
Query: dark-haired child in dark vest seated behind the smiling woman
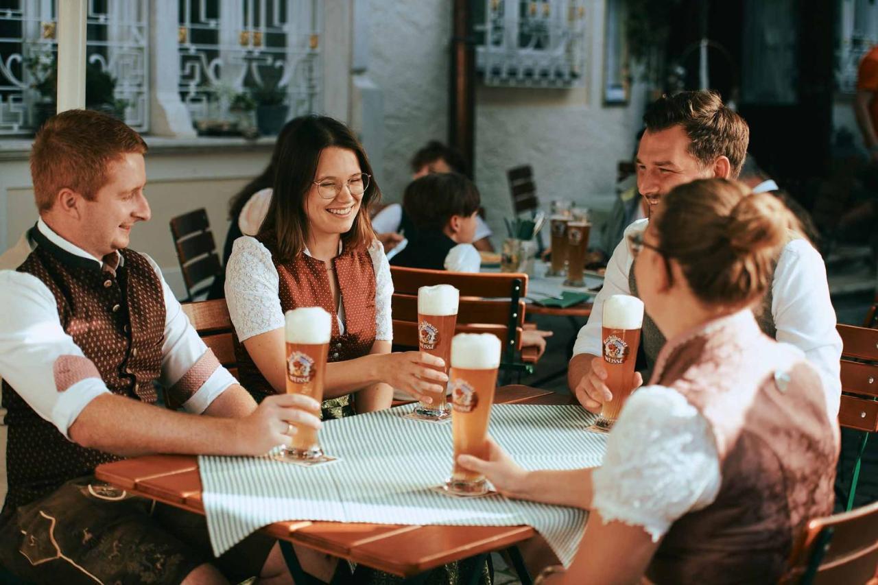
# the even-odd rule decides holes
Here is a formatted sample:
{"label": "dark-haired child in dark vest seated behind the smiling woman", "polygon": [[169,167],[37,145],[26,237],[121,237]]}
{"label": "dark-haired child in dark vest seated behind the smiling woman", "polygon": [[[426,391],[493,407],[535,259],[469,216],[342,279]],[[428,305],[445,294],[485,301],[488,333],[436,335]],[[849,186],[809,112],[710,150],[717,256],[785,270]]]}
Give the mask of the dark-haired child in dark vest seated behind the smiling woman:
{"label": "dark-haired child in dark vest seated behind the smiling woman", "polygon": [[[471,244],[479,210],[479,189],[454,172],[416,178],[406,187],[403,207],[417,231],[390,264],[435,271],[479,272],[481,256]],[[525,329],[522,345],[534,346],[537,358],[551,331]]]}

